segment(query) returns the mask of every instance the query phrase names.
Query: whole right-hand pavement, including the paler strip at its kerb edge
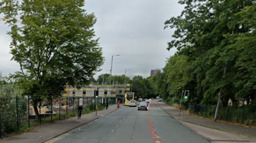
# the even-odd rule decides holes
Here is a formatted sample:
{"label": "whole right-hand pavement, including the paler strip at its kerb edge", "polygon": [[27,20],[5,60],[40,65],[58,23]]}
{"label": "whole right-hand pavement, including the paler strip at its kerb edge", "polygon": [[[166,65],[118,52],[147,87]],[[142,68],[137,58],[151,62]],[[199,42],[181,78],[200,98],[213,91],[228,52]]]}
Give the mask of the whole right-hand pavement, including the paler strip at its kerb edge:
{"label": "whole right-hand pavement, including the paler strip at its kerb edge", "polygon": [[178,116],[179,110],[177,108],[166,105],[163,102],[157,102],[157,105],[174,119],[210,142],[256,142],[255,128],[246,128],[241,125],[214,122],[210,119],[192,116],[186,112],[181,112],[180,116]]}

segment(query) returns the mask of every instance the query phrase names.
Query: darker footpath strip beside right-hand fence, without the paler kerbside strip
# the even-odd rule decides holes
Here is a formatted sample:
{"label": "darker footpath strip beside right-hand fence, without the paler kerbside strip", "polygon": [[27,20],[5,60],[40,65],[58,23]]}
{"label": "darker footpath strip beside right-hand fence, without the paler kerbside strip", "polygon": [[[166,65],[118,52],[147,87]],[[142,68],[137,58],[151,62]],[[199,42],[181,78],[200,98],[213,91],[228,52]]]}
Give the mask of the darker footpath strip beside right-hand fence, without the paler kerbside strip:
{"label": "darker footpath strip beside right-hand fence, without the paler kerbside strip", "polygon": [[162,110],[164,110],[167,114],[171,115],[178,121],[197,124],[207,128],[218,129],[218,130],[233,132],[237,134],[243,134],[245,136],[256,138],[255,128],[242,127],[241,125],[235,125],[235,124],[229,124],[229,123],[214,122],[210,119],[203,119],[200,117],[192,116],[189,113],[185,113],[185,112],[181,112],[180,116],[178,116],[179,110],[177,108],[166,105],[163,102],[157,102],[157,105],[161,107]]}

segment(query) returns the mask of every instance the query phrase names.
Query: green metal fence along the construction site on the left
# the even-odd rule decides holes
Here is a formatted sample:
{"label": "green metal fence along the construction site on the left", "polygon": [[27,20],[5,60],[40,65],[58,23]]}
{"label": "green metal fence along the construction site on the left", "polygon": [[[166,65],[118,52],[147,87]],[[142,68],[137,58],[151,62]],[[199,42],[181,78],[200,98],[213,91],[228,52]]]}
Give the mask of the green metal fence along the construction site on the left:
{"label": "green metal fence along the construction site on the left", "polygon": [[[6,98],[6,97],[0,97]],[[13,132],[26,131],[44,122],[66,119],[67,117],[77,116],[77,107],[83,106],[82,113],[95,111],[96,105],[102,110],[108,98],[92,97],[62,97],[50,100],[41,100],[37,104],[38,114],[29,98],[10,98],[1,99],[0,103],[0,138],[8,136]],[[115,104],[116,98],[111,97],[109,105]]]}

